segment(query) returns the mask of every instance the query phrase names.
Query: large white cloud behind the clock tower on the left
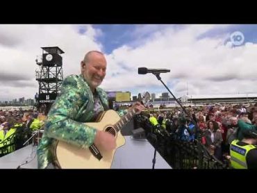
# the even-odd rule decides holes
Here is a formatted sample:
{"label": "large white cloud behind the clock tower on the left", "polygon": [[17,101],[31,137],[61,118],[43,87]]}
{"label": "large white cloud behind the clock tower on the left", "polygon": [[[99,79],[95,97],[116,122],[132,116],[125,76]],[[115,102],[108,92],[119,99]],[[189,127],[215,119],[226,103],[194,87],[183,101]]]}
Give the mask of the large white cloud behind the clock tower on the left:
{"label": "large white cloud behind the clock tower on the left", "polygon": [[42,55],[40,47],[58,46],[65,51],[62,55],[64,76],[80,73],[80,62],[85,53],[102,48],[101,44],[95,42],[96,35],[101,32],[94,31],[90,25],[84,27],[86,31],[81,35],[76,25],[0,25],[1,73],[6,73],[8,76],[19,74],[30,83],[30,87],[22,87],[23,84],[29,83],[20,83],[19,88],[13,87],[11,80],[7,81],[6,78],[5,81],[1,80],[0,100],[33,98],[35,92],[38,92],[38,82],[35,81],[35,69],[37,69],[35,59]]}

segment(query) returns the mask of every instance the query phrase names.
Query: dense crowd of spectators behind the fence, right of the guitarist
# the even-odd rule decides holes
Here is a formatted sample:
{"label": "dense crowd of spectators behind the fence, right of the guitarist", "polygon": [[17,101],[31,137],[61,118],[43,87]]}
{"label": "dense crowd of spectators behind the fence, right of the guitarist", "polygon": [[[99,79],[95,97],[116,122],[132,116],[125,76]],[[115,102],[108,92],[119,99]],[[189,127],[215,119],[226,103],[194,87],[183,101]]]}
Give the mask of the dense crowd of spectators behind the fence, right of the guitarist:
{"label": "dense crowd of spectators behind the fence, right of the guitarist", "polygon": [[244,131],[257,129],[257,103],[245,107],[242,104],[189,106],[185,113],[181,108],[167,111],[151,111],[147,117],[152,126],[159,126],[176,140],[199,140],[218,160],[230,158],[233,140],[243,140]]}

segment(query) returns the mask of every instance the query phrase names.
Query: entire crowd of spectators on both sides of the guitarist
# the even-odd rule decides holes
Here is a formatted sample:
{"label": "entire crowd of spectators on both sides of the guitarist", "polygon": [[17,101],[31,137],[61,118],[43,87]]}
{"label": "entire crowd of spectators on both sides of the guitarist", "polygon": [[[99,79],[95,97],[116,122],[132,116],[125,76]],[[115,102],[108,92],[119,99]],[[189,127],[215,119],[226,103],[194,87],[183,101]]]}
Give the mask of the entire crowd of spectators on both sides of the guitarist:
{"label": "entire crowd of spectators on both sides of the guitarist", "polygon": [[[240,104],[204,105],[196,108],[189,106],[186,112],[179,107],[161,111],[147,108],[147,114],[143,114],[147,115],[154,128],[173,135],[176,140],[199,140],[211,155],[221,161],[230,158],[233,141],[244,140],[247,136],[244,131],[257,128],[257,103],[247,107]],[[6,140],[12,135],[15,136],[15,142],[10,152],[22,148],[33,132],[42,128],[45,118],[37,111],[0,110],[0,149],[13,143],[12,140]],[[31,142],[29,140],[28,144]]]}

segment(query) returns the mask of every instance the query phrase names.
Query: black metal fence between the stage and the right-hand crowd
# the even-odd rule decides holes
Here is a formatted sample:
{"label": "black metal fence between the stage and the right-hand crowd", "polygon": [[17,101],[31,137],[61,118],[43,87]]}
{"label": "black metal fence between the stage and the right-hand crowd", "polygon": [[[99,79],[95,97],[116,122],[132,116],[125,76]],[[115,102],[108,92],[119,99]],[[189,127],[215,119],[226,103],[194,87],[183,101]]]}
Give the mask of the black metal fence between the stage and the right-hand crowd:
{"label": "black metal fence between the stage and the right-hand crowd", "polygon": [[198,140],[183,142],[164,129],[151,126],[148,119],[135,118],[138,126],[144,128],[147,140],[173,169],[229,169],[229,160],[224,162],[210,155],[206,146]]}

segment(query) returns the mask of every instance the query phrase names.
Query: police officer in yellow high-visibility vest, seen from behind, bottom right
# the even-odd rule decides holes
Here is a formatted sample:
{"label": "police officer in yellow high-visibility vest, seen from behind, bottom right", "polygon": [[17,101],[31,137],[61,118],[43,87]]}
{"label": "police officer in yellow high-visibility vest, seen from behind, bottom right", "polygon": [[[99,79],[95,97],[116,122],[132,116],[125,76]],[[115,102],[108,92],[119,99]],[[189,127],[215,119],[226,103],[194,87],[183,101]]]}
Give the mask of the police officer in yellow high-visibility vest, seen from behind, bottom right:
{"label": "police officer in yellow high-visibility vest, seen from behind, bottom right", "polygon": [[233,140],[230,146],[231,167],[234,169],[257,169],[257,131],[243,132],[242,141]]}

